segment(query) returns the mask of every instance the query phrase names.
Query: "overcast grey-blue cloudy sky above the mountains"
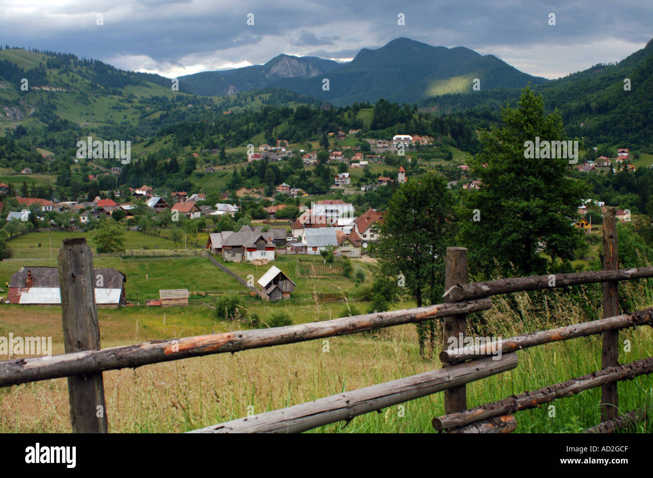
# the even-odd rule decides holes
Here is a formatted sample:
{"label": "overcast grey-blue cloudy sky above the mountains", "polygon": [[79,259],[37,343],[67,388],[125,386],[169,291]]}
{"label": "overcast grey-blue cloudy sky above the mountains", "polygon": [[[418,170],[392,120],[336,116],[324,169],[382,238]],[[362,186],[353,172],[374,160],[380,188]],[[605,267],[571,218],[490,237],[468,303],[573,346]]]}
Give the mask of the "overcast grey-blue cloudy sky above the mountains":
{"label": "overcast grey-blue cloudy sky above the mountains", "polygon": [[[249,13],[254,25],[247,25]],[[653,1],[0,0],[3,45],[170,78],[257,65],[281,53],[348,61],[398,37],[466,46],[558,78],[643,48],[653,37]]]}

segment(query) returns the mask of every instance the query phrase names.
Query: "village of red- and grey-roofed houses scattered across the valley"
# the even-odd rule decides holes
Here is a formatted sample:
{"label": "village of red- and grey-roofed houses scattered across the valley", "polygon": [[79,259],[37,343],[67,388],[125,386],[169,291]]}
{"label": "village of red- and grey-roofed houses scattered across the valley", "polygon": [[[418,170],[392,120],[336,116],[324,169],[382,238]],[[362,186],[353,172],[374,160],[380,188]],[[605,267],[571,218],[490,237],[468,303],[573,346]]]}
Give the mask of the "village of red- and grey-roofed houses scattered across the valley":
{"label": "village of red- and grey-roofed houses scattered across the valley", "polygon": [[[357,130],[349,131],[350,135],[357,133]],[[342,131],[330,133],[330,135],[341,141],[347,136]],[[329,165],[344,164],[347,165],[347,169],[356,170],[381,163],[383,151],[396,153],[400,150],[415,150],[416,147],[427,146],[432,142],[433,138],[430,136],[395,135],[392,140],[371,140],[368,153],[358,151],[357,147],[351,146],[342,148],[342,150],[329,150],[327,161]],[[247,163],[283,161],[293,154],[289,142],[286,140],[278,140],[276,146],[261,144],[258,150],[258,153],[247,155]],[[217,150],[203,150],[202,153],[210,155],[217,153]],[[297,153],[303,153],[301,159],[304,167],[316,167],[325,160],[325,151],[323,150],[311,153],[295,150],[295,154]],[[197,153],[193,153],[193,155],[199,156]],[[322,157],[318,158],[319,155]],[[629,161],[631,161],[629,150],[620,148],[614,158],[601,155],[594,161],[585,159],[584,163],[575,168],[582,172],[609,172],[614,163],[618,169],[615,168],[612,172],[618,172],[621,168],[628,171],[634,170]],[[483,164],[483,167],[486,167],[486,164]],[[460,187],[463,190],[482,187],[481,181],[471,179],[474,177],[473,171],[468,165],[461,164],[457,168],[460,170],[460,180],[449,182],[447,187],[450,189]],[[338,170],[343,169],[342,167],[338,168]],[[120,170],[120,167],[112,167],[104,174],[117,175]],[[210,173],[215,170],[207,167],[205,172]],[[471,178],[466,180],[468,174],[471,175]],[[89,180],[97,180],[97,176],[89,175]],[[334,195],[341,191],[351,197],[351,195],[364,191],[376,191],[379,187],[398,187],[407,181],[407,171],[400,166],[396,169],[394,177],[379,175],[374,182],[362,184],[360,191],[352,187],[351,180],[351,172],[337,172],[330,187],[330,194]],[[11,189],[11,185],[0,183],[0,193],[7,195],[13,192],[10,191]],[[145,209],[145,214],[154,218],[155,225],[157,219],[169,214],[167,218],[170,220],[161,223],[162,230],[170,225],[174,227],[175,223],[185,221],[197,223],[197,230],[202,233],[202,236],[206,236],[206,245],[202,246],[204,252],[221,258],[225,263],[243,262],[255,264],[255,266],[266,266],[268,263],[277,261],[279,257],[291,255],[300,257],[301,255],[315,257],[333,255],[334,257],[370,258],[371,261],[374,261],[374,244],[379,239],[379,226],[383,222],[383,211],[368,207],[366,210],[360,210],[357,214],[355,205],[345,202],[343,199],[301,202],[304,199],[311,199],[308,193],[285,182],[274,187],[274,196],[272,197],[264,197],[263,190],[263,187],[242,186],[232,193],[228,190],[223,191],[220,195],[221,202],[215,204],[210,204],[206,193],[203,192],[189,194],[186,191],[172,191],[171,193],[157,194],[148,185],[127,187],[123,189],[122,193],[119,190],[101,191],[101,195],[92,201],[57,202],[38,197],[16,196],[18,208],[7,212],[6,220],[7,223],[15,221],[16,225],[21,223],[28,225],[35,223],[34,219],[45,221],[45,217],[42,216],[45,216],[46,213],[59,213],[67,217],[70,227],[84,228],[88,227],[90,223],[97,223],[101,217],[111,217],[118,223],[127,226],[131,231],[138,232],[141,227],[138,224],[134,225],[135,215],[139,212],[144,214],[143,210]],[[242,200],[272,205],[263,206],[266,217],[262,219],[251,220],[249,223],[231,230],[224,228],[219,228],[220,231],[210,230],[211,225],[219,223],[223,216],[229,216],[232,219],[242,216]],[[584,200],[582,204],[578,205],[580,217],[575,222],[575,227],[588,233],[596,230],[596,225],[592,225],[590,212],[603,214],[607,211],[607,207],[609,206],[606,206],[604,202],[592,199]],[[291,215],[286,214],[289,211],[293,211]],[[37,217],[32,218],[30,223],[30,215],[33,214]],[[628,210],[618,209],[616,218],[619,221],[629,221],[630,213]],[[210,222],[207,223],[207,219]],[[234,221],[231,222],[231,224],[233,223]],[[50,219],[49,223],[44,225],[59,227],[61,222]],[[12,231],[11,227],[8,229],[10,232]],[[16,231],[26,232],[18,227],[16,227]],[[16,238],[16,240],[20,241],[20,238]],[[196,243],[196,246],[199,244]],[[176,242],[174,248],[176,249]],[[326,262],[326,259],[324,261]],[[53,270],[56,271],[56,268],[39,266],[21,268],[12,274],[8,281],[7,297],[3,300],[8,304],[58,304],[58,279]],[[97,304],[118,306],[131,303],[132,301],[127,300],[127,296],[125,296],[124,284],[127,281],[125,274],[112,269],[106,275],[111,279],[107,282],[106,287],[97,287]],[[122,280],[118,278],[122,278]],[[257,289],[255,294],[264,300],[291,298],[296,287],[289,276],[276,266],[270,266],[259,280],[263,280],[263,283],[257,282],[257,285],[250,284],[249,287]],[[161,289],[158,298],[150,297],[144,303],[155,306],[185,305],[188,304],[189,296],[190,293],[187,289]]]}

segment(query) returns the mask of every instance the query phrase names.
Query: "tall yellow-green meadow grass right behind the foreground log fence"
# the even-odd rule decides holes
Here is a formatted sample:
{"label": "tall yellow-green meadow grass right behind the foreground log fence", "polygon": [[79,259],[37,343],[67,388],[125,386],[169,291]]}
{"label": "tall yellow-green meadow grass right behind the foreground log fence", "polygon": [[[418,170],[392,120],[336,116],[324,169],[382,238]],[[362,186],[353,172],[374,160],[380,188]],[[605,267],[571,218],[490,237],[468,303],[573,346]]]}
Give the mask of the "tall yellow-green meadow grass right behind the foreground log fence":
{"label": "tall yellow-green meadow grass right behind the foreground log fence", "polygon": [[[479,333],[507,337],[590,319],[555,293],[547,313],[535,310],[526,294],[515,299],[521,318],[517,310],[496,300],[492,310],[482,313],[486,325]],[[394,304],[394,308],[407,305]],[[314,305],[296,307],[303,307],[300,311],[309,320],[323,318]],[[480,316],[470,317],[475,321]],[[103,347],[238,328],[215,321],[208,308],[199,306],[100,309],[99,319]],[[63,351],[59,308],[0,306],[0,335],[9,332],[52,336],[54,353]],[[632,344],[630,352],[620,351],[620,363],[653,355],[650,328],[625,330],[620,339]],[[441,367],[437,358],[419,359],[412,325],[390,328],[382,338],[360,334],[330,338],[328,351],[325,345],[316,340],[104,372],[109,430],[184,432],[244,417],[248,407],[261,413]],[[519,351],[518,356],[515,370],[468,385],[470,407],[598,370],[601,343],[598,337],[580,338]],[[618,390],[622,411],[653,406],[651,376],[620,382]],[[579,432],[600,421],[599,402],[600,390],[593,389],[556,400],[554,415],[549,407],[520,411],[517,432]],[[431,419],[442,414],[443,394],[437,393],[407,402],[403,408],[355,417],[347,426],[340,422],[314,431],[432,433]],[[648,419],[637,431],[650,432],[652,424]],[[0,389],[0,432],[69,430],[65,379]]]}

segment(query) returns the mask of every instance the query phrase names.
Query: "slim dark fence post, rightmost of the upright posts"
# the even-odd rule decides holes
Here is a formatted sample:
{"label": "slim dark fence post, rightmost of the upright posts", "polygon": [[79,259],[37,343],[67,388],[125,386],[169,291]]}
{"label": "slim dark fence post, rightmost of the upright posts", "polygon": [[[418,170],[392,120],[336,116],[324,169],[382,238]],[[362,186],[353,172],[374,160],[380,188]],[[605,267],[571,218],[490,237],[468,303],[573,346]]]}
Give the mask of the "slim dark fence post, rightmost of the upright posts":
{"label": "slim dark fence post, rightmost of the upright posts", "polygon": [[[614,209],[603,215],[603,270],[619,268],[617,255],[616,218]],[[618,281],[603,283],[603,318],[619,315],[618,312]],[[601,366],[605,369],[618,365],[619,332],[608,330],[603,332],[603,350],[601,352]],[[601,421],[611,420],[618,413],[617,384],[606,383],[601,387]]]}

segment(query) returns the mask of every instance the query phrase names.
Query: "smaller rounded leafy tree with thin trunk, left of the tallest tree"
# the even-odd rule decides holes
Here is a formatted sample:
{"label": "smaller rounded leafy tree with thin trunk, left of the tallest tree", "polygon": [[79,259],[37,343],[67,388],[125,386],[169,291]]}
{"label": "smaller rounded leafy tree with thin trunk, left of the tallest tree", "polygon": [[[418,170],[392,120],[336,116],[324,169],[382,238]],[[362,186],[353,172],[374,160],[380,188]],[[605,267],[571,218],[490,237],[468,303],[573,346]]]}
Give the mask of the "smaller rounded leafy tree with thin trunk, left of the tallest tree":
{"label": "smaller rounded leafy tree with thin trunk, left of the tallest tree", "polygon": [[[404,183],[392,195],[380,227],[376,246],[381,271],[398,278],[417,306],[435,304],[444,287],[444,259],[453,234],[453,199],[447,184],[434,172]],[[401,274],[401,276],[400,276]],[[419,323],[421,357],[425,357],[427,327],[429,347],[435,344],[435,324]]]}

